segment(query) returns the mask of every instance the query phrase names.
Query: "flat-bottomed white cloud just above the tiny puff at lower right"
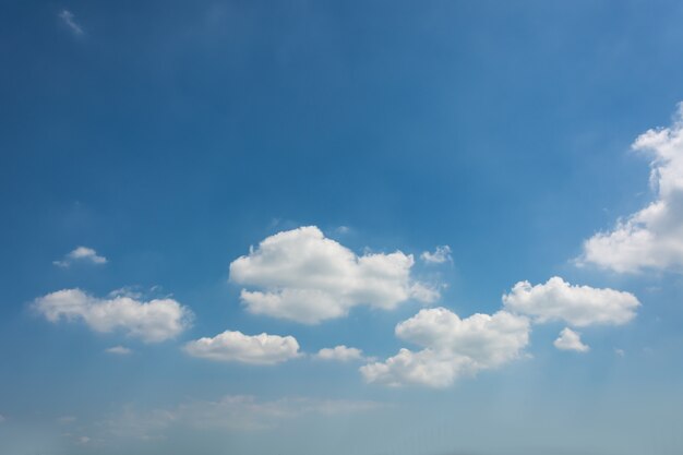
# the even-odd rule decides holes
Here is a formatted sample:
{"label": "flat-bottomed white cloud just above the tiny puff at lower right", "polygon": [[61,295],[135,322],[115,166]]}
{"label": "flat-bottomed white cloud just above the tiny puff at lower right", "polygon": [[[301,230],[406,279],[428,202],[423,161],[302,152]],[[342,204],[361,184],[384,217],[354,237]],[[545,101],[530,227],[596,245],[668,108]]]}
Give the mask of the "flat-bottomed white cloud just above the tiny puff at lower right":
{"label": "flat-bottomed white cloud just above the tiny puff at lower right", "polygon": [[554,276],[544,285],[517,283],[510,294],[503,295],[503,304],[508,311],[532,316],[536,323],[564,321],[583,327],[626,324],[635,318],[640,302],[630,292],[572,286]]}

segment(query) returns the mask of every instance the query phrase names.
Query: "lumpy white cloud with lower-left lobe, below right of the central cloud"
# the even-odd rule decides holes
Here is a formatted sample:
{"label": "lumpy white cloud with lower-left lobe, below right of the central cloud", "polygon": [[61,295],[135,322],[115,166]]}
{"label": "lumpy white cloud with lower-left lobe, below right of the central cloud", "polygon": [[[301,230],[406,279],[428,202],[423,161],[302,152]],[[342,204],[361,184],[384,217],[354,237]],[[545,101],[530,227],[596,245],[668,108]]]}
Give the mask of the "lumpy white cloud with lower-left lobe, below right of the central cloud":
{"label": "lumpy white cloud with lower-left lobe, below right of the central cloud", "polygon": [[462,320],[445,308],[434,308],[421,310],[398,324],[395,332],[424,349],[400,349],[384,362],[361,367],[366,381],[445,387],[460,376],[518,358],[529,342],[529,321],[505,311]]}

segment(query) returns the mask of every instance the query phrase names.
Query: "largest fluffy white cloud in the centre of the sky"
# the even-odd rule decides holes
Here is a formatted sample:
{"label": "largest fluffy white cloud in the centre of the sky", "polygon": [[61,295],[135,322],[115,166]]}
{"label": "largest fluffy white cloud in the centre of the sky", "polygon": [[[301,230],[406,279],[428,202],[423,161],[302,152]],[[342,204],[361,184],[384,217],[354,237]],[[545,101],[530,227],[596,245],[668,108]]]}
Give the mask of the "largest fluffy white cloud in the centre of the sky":
{"label": "largest fluffy white cloud in the centre of the sky", "polygon": [[230,264],[230,280],[260,288],[241,291],[251,313],[316,324],[363,303],[390,310],[410,298],[434,301],[439,291],[411,278],[414,263],[400,251],[358,256],[308,226],[264,239]]}

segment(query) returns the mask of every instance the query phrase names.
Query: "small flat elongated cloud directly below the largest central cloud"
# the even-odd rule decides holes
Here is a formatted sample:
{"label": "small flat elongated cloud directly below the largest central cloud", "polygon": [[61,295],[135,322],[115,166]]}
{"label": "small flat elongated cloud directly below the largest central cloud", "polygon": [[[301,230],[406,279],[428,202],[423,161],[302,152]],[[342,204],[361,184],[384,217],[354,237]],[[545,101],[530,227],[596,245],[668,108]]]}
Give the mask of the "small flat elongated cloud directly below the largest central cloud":
{"label": "small flat elongated cloud directly below the largest central cloud", "polygon": [[293,336],[265,333],[250,336],[231,331],[190,342],[184,350],[209,360],[254,364],[275,364],[300,356],[299,343]]}

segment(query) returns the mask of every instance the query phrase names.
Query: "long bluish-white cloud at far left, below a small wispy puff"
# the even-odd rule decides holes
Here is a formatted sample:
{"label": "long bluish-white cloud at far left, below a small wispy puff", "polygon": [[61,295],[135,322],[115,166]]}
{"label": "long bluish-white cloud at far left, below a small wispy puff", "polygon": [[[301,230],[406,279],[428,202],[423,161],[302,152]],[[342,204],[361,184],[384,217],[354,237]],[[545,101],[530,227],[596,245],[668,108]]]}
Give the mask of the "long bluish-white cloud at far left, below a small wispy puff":
{"label": "long bluish-white cloud at far left, below a small wispy puff", "polygon": [[33,308],[52,323],[62,319],[83,320],[95,332],[121,330],[146,343],[173,338],[192,320],[192,312],[172,299],[148,302],[130,297],[99,299],[81,289],[63,289],[39,297]]}

